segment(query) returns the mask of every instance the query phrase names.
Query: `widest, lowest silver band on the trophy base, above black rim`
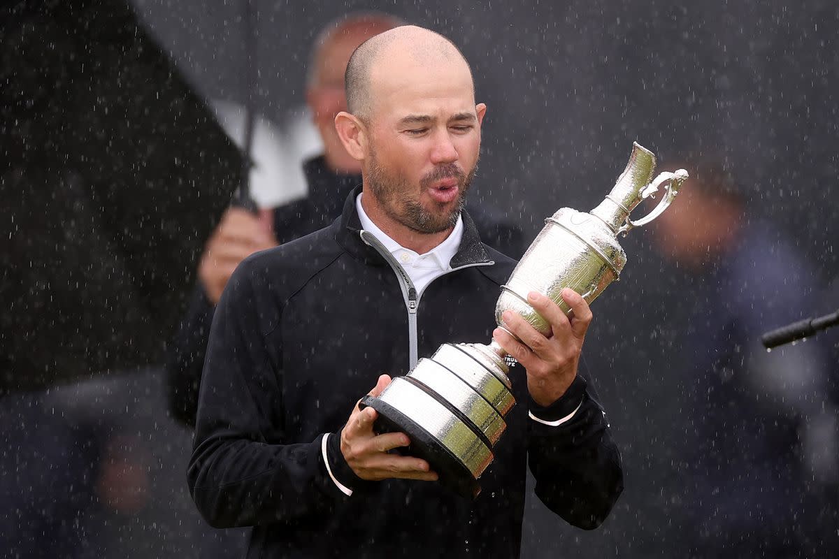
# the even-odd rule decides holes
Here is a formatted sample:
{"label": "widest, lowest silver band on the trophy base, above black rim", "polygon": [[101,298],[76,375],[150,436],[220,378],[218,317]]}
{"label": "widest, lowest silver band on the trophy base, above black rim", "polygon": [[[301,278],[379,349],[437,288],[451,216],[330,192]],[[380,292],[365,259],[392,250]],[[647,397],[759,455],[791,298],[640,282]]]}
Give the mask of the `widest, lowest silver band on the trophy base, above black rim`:
{"label": "widest, lowest silver band on the trophy base, above black rim", "polygon": [[379,399],[402,411],[448,448],[477,479],[492,462],[492,451],[466,423],[435,398],[396,377]]}

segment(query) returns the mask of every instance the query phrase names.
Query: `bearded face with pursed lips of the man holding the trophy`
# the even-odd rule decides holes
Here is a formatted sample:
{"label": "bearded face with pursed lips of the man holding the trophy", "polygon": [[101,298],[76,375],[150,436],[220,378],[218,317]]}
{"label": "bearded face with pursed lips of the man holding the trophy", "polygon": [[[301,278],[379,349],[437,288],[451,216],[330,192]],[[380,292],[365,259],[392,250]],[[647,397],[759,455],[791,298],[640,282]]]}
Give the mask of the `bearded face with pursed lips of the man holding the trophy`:
{"label": "bearded face with pursed lips of the man holding the trophy", "polygon": [[389,220],[439,233],[456,223],[475,175],[486,107],[462,60],[403,70],[373,76],[365,186]]}

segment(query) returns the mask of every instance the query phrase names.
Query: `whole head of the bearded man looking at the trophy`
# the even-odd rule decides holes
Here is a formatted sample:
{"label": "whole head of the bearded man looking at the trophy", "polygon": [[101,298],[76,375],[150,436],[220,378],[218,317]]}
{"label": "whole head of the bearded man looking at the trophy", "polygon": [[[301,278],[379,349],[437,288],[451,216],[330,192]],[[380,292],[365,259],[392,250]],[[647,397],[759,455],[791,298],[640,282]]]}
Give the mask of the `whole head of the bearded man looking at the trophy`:
{"label": "whole head of the bearded man looking at the trophy", "polygon": [[341,142],[362,167],[364,212],[425,254],[451,233],[477,168],[487,106],[451,41],[404,26],[356,49],[347,65]]}

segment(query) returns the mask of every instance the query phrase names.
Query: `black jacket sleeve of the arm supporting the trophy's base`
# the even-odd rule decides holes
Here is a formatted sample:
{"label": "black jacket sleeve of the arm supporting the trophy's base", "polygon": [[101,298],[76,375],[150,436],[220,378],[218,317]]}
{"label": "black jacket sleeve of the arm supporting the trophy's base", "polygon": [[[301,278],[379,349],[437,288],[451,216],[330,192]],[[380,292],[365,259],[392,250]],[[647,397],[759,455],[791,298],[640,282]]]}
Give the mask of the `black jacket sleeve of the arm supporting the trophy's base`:
{"label": "black jacket sleeve of the arm supporting the trophy's base", "polygon": [[303,520],[347,499],[326,473],[324,435],[285,440],[282,371],[259,321],[271,311],[258,304],[247,264],[213,318],[187,474],[195,505],[216,528]]}

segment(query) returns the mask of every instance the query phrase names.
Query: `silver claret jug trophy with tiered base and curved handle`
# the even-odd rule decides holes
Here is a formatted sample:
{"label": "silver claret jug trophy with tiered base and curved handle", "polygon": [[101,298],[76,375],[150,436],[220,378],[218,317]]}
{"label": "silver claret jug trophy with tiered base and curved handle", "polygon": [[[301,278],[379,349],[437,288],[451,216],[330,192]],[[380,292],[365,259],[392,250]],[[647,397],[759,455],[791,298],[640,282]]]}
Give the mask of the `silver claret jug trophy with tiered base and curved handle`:
{"label": "silver claret jug trophy with tiered base and curved handle", "polygon": [[[545,228],[502,287],[495,307],[498,326],[506,329],[502,315],[511,310],[548,335],[550,324],[527,302],[529,292],[550,297],[569,313],[560,296],[564,287],[591,303],[618,280],[626,263],[618,234],[661,215],[688,177],[679,169],[650,182],[654,169],[653,153],[634,143],[627,167],[597,208],[588,213],[562,208],[545,220]],[[663,186],[664,196],[649,215],[629,219],[635,206]],[[492,463],[492,448],[507,427],[504,417],[515,405],[506,356],[494,340],[488,345],[443,344],[408,375],[394,378],[380,396],[365,396],[362,406],[378,412],[377,432],[410,437],[403,453],[425,458],[441,483],[476,497],[481,491],[477,479]]]}

